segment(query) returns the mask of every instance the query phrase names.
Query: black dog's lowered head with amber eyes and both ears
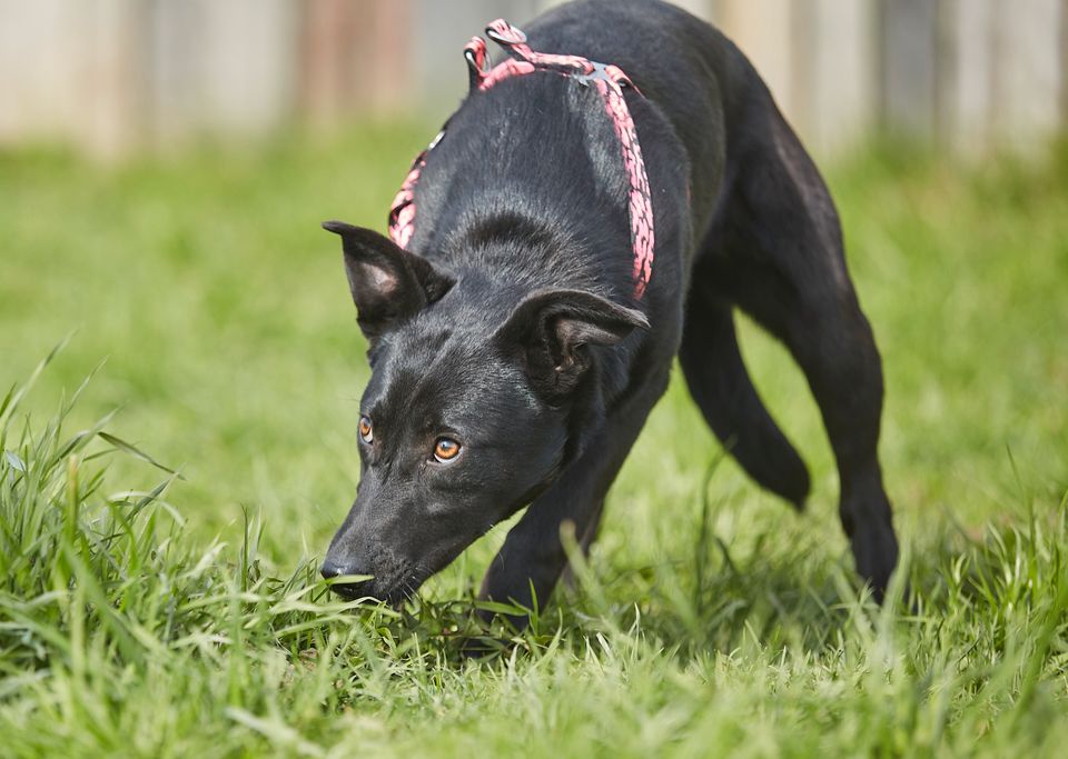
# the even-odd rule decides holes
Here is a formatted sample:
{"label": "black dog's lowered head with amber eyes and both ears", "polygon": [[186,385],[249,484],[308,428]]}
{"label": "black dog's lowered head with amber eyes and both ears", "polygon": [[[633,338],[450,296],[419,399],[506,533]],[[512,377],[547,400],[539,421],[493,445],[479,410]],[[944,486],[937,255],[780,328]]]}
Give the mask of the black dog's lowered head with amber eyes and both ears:
{"label": "black dog's lowered head with amber eyes and both ears", "polygon": [[342,222],[345,269],[370,349],[360,480],[323,573],[396,601],[547,487],[597,408],[594,347],[647,327],[590,292],[462,282]]}

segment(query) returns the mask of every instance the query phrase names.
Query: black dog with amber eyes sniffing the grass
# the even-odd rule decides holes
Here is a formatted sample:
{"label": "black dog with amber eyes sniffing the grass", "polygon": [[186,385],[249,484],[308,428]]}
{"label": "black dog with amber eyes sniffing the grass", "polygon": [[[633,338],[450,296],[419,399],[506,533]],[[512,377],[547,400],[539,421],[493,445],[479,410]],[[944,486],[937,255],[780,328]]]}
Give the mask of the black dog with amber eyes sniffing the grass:
{"label": "black dog with amber eyes sniffing the grass", "polygon": [[745,372],[740,308],[804,370],[857,568],[881,595],[898,547],[876,452],[879,353],[834,206],[767,87],[721,33],[662,2],[575,2],[527,31],[533,50],[633,82],[651,268],[635,279],[634,177],[602,97],[611,67],[483,89],[484,48],[468,46],[473,91],[406,183],[406,249],[325,224],[343,238],[373,374],[359,490],[324,576],[370,575],[335,589],[396,601],[528,506],[483,595],[543,602],[566,563],[561,527],[589,547],[676,353],[720,440],[801,508],[808,471]]}

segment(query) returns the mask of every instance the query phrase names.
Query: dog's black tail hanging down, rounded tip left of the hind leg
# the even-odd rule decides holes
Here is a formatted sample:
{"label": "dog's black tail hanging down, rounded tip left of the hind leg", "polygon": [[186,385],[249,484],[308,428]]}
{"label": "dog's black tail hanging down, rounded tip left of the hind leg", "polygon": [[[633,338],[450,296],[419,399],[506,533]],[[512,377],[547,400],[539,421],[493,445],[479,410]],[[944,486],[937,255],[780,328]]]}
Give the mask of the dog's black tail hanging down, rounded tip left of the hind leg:
{"label": "dog's black tail hanging down, rounded tip left of the hind leg", "polygon": [[803,508],[809,470],[756,395],[730,306],[702,296],[700,288],[686,304],[679,359],[690,395],[730,453],[759,485]]}

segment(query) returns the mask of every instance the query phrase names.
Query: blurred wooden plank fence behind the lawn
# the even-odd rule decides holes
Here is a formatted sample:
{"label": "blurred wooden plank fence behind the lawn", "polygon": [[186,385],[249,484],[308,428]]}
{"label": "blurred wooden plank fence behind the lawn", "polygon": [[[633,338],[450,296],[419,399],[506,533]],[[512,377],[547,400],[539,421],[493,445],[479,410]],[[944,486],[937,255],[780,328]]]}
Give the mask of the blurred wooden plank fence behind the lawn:
{"label": "blurred wooden plank fence behind the lawn", "polygon": [[[202,134],[419,112],[464,42],[546,0],[0,0],[0,146],[110,157]],[[1068,0],[683,0],[752,58],[819,153],[872,130],[961,151],[1068,124]]]}

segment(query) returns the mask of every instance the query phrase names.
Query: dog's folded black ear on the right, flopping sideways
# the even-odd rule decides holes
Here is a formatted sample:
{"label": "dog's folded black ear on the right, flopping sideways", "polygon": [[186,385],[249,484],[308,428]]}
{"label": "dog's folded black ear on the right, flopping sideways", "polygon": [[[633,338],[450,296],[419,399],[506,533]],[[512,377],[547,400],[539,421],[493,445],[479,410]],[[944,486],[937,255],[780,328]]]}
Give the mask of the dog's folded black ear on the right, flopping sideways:
{"label": "dog's folded black ear on the right, flopping sideways", "polygon": [[495,340],[521,357],[537,390],[560,397],[590,368],[590,346],[614,346],[636,328],[649,328],[641,311],[583,290],[550,289],[520,302]]}

